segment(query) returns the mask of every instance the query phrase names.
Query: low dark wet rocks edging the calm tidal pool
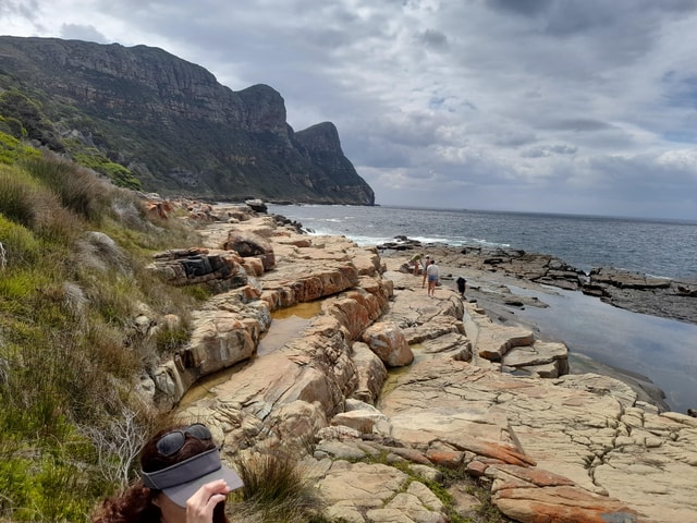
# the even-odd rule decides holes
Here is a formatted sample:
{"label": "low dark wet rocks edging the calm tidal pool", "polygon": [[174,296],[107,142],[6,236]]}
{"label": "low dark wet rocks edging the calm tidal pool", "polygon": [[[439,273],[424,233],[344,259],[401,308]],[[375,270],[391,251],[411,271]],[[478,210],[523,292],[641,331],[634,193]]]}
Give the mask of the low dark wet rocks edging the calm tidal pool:
{"label": "low dark wet rocks edging the calm tidal pool", "polygon": [[[641,275],[616,269],[596,269],[587,276],[550,255],[498,247],[472,250],[421,244],[403,236],[395,242],[378,245],[377,248],[383,258],[401,263],[395,267],[404,272],[411,271],[407,260],[414,253],[431,253],[438,259],[444,285],[455,289],[454,280],[464,275],[467,278],[466,295],[469,302],[477,303],[494,323],[531,329],[541,339],[549,337],[537,325],[522,320],[515,313],[525,307],[548,305],[543,299],[514,295],[510,287],[535,290],[541,294],[549,293],[549,288],[577,291],[619,308],[697,323],[697,318],[693,321],[697,314],[697,296],[692,295],[692,291],[685,291],[697,288],[697,282],[665,279],[656,282]],[[610,273],[615,275],[611,281],[626,282],[624,287],[608,282]],[[596,275],[604,276],[596,279]],[[602,291],[598,291],[599,289]],[[681,295],[677,302],[676,294]],[[659,305],[653,311],[647,308],[647,303]],[[661,412],[671,410],[665,402],[665,393],[646,376],[632,369],[602,364],[587,356],[570,355],[570,362],[571,374],[596,373],[620,379],[632,387],[643,401],[657,405]]]}

